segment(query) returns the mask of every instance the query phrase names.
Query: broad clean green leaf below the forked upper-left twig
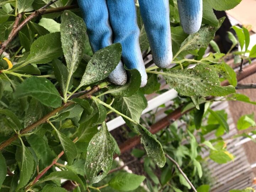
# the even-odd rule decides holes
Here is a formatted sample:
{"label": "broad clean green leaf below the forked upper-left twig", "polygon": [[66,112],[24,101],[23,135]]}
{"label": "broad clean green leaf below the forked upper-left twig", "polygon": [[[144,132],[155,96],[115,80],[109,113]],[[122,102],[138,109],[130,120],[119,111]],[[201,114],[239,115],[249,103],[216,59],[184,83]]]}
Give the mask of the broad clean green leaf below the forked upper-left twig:
{"label": "broad clean green leaf below the forked upper-left twig", "polygon": [[44,64],[62,55],[60,33],[49,33],[39,37],[30,47],[30,54],[25,63]]}

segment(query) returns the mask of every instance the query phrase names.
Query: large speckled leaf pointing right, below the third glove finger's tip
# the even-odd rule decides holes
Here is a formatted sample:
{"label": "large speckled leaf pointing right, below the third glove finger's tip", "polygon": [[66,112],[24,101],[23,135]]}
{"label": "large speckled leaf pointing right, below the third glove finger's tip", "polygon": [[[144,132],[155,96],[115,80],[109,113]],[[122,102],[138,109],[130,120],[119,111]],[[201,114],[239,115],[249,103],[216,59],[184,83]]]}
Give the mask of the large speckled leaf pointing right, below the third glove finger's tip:
{"label": "large speckled leaf pointing right, below the third glove finger's tip", "polygon": [[171,87],[185,96],[224,96],[235,92],[233,86],[221,86],[217,72],[207,64],[199,64],[192,69],[157,73],[163,75]]}

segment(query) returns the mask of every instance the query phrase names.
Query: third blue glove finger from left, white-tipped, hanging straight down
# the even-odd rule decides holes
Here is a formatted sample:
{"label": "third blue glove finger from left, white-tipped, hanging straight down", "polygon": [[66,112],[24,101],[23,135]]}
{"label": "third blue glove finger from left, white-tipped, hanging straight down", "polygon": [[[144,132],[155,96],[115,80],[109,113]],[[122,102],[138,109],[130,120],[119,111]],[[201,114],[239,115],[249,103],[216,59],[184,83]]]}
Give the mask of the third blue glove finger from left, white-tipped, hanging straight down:
{"label": "third blue glove finger from left, white-tipped, hanging straight down", "polygon": [[172,61],[169,0],[139,0],[139,5],[153,61],[166,68]]}

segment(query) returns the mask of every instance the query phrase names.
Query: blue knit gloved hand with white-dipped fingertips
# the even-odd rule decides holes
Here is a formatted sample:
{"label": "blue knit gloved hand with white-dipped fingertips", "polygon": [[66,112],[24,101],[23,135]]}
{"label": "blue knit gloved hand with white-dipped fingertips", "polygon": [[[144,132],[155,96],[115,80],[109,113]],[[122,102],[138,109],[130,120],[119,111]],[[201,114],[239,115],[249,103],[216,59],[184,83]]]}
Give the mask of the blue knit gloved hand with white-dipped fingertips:
{"label": "blue knit gloved hand with white-dipped fingertips", "polygon": [[[139,46],[139,28],[134,0],[78,0],[93,52],[112,43],[121,43],[122,61],[129,69],[147,75]],[[201,27],[202,0],[177,0],[183,30],[195,33]],[[140,12],[149,39],[154,63],[166,68],[172,61],[169,0],[139,0]],[[120,61],[109,75],[116,85],[126,83],[127,75]]]}

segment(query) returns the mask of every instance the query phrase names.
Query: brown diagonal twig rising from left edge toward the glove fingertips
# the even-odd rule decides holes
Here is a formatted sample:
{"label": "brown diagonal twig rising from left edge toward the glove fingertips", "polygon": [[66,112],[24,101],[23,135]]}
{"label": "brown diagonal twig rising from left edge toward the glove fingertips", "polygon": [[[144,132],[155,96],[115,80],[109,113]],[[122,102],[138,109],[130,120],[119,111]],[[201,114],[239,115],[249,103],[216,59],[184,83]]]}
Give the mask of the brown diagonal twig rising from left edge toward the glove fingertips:
{"label": "brown diagonal twig rising from left edge toward the glove fingertips", "polygon": [[[92,89],[90,91],[86,92],[84,95],[80,96],[79,98],[90,98],[90,96],[92,94],[94,94],[95,92],[97,92],[99,89],[100,89],[100,86],[96,85],[96,86],[92,87]],[[46,114],[44,117],[42,117],[38,121],[32,123],[30,126],[27,126],[25,129],[22,129],[20,131],[20,134],[25,134],[25,133],[30,132],[31,130],[33,130],[37,126],[45,123],[50,117],[54,116],[56,113],[58,113],[59,111],[61,111],[64,108],[70,106],[71,104],[73,104],[73,102],[68,102],[68,103],[64,104],[63,106],[54,109],[53,111],[51,111],[50,113]],[[10,137],[8,140],[6,140],[5,142],[1,143],[0,144],[0,150],[4,149],[6,146],[10,145],[17,138],[18,138],[18,135],[15,134],[12,137]]]}

